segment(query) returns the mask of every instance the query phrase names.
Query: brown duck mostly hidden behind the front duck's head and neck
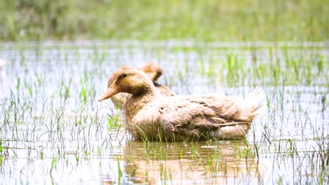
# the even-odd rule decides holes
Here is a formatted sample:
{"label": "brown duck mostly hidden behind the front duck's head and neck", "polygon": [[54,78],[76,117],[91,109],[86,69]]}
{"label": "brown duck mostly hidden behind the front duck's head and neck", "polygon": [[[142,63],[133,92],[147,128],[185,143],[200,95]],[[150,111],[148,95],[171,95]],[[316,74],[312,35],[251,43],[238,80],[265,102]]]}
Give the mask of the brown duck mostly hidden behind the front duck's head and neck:
{"label": "brown duck mostly hidden behind the front duck's head and neck", "polygon": [[[120,67],[110,75],[110,77],[108,78],[108,88],[115,81],[117,75],[126,69],[131,69],[131,67]],[[159,83],[155,82],[157,81],[157,78],[159,78],[162,75],[162,68],[158,64],[156,64],[155,62],[149,62],[144,64],[143,67],[139,69],[144,73],[146,73],[146,75],[150,78],[151,81],[153,81],[153,84],[162,95],[165,96],[174,95],[172,90],[169,90],[169,88],[167,88],[166,86],[160,85]],[[129,99],[129,97],[130,95],[128,93],[118,93],[117,95],[113,95],[111,97],[111,100],[112,103],[115,105],[115,107],[117,107],[118,109],[122,109],[124,103]]]}

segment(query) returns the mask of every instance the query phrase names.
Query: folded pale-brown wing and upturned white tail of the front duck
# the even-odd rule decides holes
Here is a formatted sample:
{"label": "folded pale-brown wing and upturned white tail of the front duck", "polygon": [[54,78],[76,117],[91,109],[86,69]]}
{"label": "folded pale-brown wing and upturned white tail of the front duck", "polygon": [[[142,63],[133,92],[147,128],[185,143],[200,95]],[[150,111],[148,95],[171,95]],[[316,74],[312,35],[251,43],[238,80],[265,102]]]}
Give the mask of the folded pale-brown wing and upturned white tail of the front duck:
{"label": "folded pale-brown wing and upturned white tail of the front duck", "polygon": [[159,107],[164,130],[198,133],[230,124],[251,123],[264,111],[258,90],[243,97],[225,95],[166,97]]}

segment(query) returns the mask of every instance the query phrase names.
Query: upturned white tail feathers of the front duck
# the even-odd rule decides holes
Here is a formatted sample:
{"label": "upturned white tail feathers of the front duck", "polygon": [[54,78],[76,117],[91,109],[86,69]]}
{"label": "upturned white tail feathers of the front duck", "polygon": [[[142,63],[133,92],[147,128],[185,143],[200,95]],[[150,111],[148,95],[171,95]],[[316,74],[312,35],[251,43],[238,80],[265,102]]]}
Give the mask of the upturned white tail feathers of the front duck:
{"label": "upturned white tail feathers of the front duck", "polygon": [[262,116],[266,111],[264,104],[265,94],[258,88],[252,90],[242,102],[240,102],[240,121],[252,122],[255,118]]}

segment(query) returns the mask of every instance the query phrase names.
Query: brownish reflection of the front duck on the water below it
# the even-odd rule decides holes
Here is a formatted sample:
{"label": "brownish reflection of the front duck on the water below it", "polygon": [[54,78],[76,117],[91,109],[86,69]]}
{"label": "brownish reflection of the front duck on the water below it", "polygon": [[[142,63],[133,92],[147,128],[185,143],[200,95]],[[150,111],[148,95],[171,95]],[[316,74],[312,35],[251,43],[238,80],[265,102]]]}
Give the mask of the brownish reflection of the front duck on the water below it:
{"label": "brownish reflection of the front duck on the water below it", "polygon": [[124,150],[125,181],[169,184],[257,182],[254,153],[245,141],[196,144],[129,142]]}

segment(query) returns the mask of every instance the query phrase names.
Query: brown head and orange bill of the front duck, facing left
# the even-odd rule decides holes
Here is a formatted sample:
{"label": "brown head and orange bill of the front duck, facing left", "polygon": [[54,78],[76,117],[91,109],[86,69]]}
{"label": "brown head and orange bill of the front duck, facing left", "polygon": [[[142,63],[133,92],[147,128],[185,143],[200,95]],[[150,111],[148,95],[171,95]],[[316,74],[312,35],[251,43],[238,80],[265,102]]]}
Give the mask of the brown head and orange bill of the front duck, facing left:
{"label": "brown head and orange bill of the front duck, facing left", "polygon": [[153,87],[153,82],[143,71],[139,69],[126,69],[117,75],[115,81],[98,98],[98,101],[106,100],[117,93],[129,93],[131,95],[149,93],[149,91],[153,90]]}

